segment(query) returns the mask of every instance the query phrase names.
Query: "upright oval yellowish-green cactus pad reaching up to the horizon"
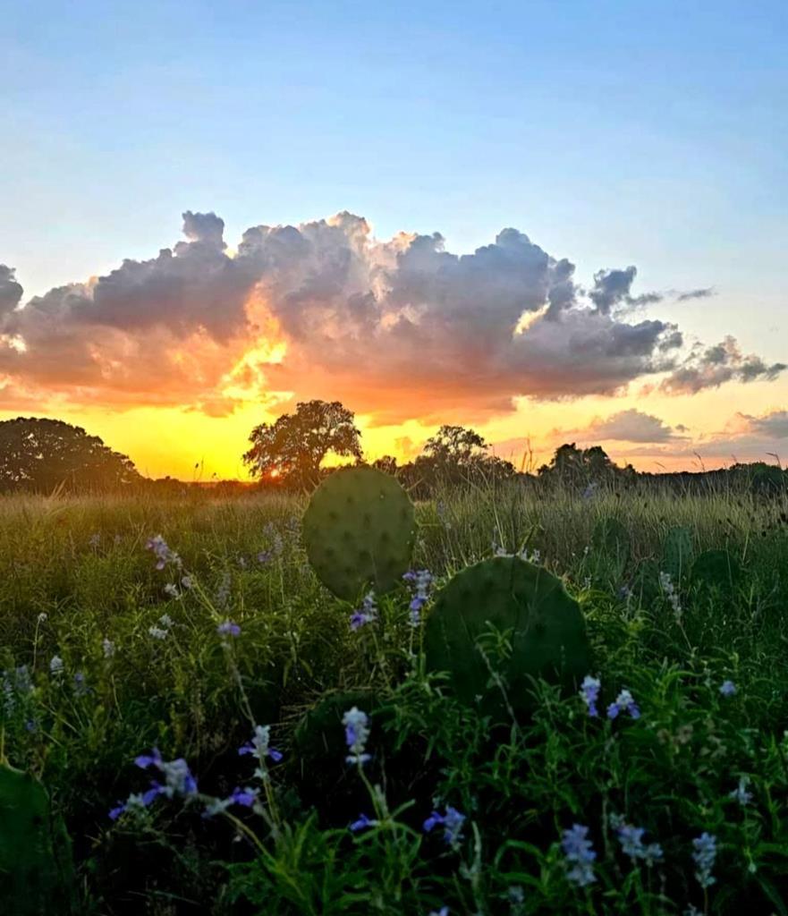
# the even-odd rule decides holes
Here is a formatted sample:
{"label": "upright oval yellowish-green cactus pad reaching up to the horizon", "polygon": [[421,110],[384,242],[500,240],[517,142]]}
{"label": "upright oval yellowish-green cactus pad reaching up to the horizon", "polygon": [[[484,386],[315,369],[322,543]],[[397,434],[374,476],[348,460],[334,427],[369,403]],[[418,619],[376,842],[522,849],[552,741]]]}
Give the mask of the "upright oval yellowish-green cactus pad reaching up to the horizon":
{"label": "upright oval yellowish-green cactus pad reaching up to the horizon", "polygon": [[314,491],[303,540],[320,581],[346,601],[389,591],[410,567],[413,504],[396,478],[372,467],[335,471]]}

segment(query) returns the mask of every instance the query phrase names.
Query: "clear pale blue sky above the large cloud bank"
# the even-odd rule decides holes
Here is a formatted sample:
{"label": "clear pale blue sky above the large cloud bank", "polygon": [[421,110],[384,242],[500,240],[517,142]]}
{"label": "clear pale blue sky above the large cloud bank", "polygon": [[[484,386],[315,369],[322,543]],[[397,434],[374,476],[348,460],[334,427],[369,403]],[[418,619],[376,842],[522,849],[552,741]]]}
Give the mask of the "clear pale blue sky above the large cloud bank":
{"label": "clear pale blue sky above the large cloud bank", "polygon": [[783,2],[6,4],[0,264],[27,300],[186,210],[230,245],[343,210],[455,252],[514,226],[584,284],[714,287],[659,317],[785,360],[786,49]]}

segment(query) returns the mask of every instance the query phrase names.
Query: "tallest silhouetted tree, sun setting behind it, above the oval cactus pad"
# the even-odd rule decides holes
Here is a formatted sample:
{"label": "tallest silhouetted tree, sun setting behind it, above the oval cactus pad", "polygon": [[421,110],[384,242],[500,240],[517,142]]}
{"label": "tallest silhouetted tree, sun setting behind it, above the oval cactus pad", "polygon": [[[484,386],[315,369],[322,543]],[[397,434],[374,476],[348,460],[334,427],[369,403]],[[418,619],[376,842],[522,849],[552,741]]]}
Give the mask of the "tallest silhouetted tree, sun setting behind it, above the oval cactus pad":
{"label": "tallest silhouetted tree, sun setting behind it, above the oval cactus pad", "polygon": [[362,458],[355,416],[339,401],[301,402],[295,413],[275,423],[261,423],[249,435],[252,447],[244,463],[253,476],[279,475],[290,484],[310,486],[320,480],[320,465],[328,453]]}

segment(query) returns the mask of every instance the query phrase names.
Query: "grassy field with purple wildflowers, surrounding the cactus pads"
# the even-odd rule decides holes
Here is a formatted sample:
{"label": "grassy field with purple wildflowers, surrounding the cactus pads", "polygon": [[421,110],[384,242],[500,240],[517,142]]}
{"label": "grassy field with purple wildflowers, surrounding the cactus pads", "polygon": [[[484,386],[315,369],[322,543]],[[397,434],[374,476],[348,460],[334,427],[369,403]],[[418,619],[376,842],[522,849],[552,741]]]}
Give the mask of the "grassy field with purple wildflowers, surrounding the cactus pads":
{"label": "grassy field with purple wildflowers, surrounding the cactus pads", "polygon": [[[425,673],[406,583],[350,626],[301,549],[304,506],[0,501],[0,757],[64,819],[76,912],[788,913],[783,497],[508,485],[419,505],[434,589],[525,549],[586,617],[599,714],[533,682],[503,722]],[[660,581],[676,526],[740,575]],[[345,759],[353,706],[365,765]]]}

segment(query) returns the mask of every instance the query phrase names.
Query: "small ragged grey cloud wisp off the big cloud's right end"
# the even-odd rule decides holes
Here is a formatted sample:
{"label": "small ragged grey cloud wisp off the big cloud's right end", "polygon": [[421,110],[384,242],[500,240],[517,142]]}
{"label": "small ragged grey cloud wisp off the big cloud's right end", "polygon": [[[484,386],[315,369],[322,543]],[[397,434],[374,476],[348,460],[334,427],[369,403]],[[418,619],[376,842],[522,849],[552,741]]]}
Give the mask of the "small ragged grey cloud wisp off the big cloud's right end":
{"label": "small ragged grey cloud wisp off the big cloud's right end", "polygon": [[767,364],[756,354],[742,354],[734,337],[691,354],[662,381],[668,394],[696,394],[704,388],[717,388],[725,382],[772,381],[783,372],[784,363]]}

